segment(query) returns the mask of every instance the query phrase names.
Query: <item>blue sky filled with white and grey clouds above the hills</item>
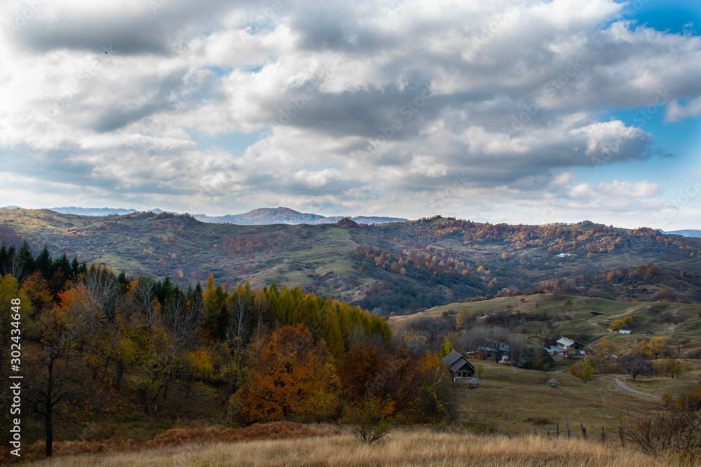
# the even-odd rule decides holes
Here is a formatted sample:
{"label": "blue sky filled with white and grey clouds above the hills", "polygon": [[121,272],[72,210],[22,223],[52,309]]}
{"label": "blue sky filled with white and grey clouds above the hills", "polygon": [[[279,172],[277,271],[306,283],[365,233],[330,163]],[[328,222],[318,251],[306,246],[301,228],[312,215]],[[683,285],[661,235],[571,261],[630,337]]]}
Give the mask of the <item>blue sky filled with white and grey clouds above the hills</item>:
{"label": "blue sky filled with white and grey clouds above the hills", "polygon": [[0,205],[701,229],[701,3],[6,0]]}

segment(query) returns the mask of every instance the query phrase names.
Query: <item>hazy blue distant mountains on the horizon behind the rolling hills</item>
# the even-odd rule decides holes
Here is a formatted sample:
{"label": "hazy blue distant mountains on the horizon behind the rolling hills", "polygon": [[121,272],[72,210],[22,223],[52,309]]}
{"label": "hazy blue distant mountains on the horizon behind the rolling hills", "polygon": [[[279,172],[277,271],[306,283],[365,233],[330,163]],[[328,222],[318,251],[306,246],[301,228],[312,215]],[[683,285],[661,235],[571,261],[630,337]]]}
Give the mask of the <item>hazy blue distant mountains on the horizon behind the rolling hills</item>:
{"label": "hazy blue distant mountains on the horizon behind the rolling hills", "polygon": [[[6,206],[4,209],[22,209],[18,206]],[[109,208],[109,207],[52,207],[50,211],[60,214],[77,214],[79,216],[124,216],[134,214],[136,209]],[[160,214],[161,209],[149,209],[148,212]],[[175,213],[179,214],[179,213]],[[200,222],[207,223],[231,223],[238,225],[271,225],[271,224],[333,224],[342,218],[348,217],[360,224],[385,224],[390,222],[404,222],[407,219],[400,217],[385,216],[321,216],[308,212],[294,211],[287,207],[264,207],[254,209],[243,214],[227,214],[226,216],[207,216],[206,214],[193,214],[193,217]]]}

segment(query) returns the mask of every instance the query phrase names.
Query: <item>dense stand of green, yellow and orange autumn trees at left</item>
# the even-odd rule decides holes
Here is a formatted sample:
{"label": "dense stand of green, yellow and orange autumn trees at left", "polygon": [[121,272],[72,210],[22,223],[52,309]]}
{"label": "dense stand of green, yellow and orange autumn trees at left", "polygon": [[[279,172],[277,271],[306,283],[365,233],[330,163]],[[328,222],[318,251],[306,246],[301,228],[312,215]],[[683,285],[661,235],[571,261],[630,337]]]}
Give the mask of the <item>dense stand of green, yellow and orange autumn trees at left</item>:
{"label": "dense stand of green, yellow and orange autumn trees at left", "polygon": [[[46,249],[6,251],[25,255],[22,271],[31,271],[18,280],[19,269],[4,270],[0,305],[22,302],[22,417],[41,423],[47,456],[57,417],[81,424],[132,398],[153,418],[163,401],[188,400],[194,384],[211,388],[228,423],[451,417],[440,357],[393,347],[386,321],[360,307],[274,282],[226,290],[210,276],[205,288],[181,288],[97,263],[62,269],[64,258]],[[65,280],[55,291],[57,274]],[[7,375],[8,356],[0,361]],[[10,397],[0,389],[3,417]]]}

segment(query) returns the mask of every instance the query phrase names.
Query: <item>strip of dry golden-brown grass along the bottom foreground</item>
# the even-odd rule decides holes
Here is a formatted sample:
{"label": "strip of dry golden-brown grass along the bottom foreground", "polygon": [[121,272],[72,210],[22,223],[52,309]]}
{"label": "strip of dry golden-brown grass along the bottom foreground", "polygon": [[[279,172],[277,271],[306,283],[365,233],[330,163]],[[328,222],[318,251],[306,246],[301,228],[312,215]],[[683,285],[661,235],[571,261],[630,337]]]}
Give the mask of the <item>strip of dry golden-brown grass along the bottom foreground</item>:
{"label": "strip of dry golden-brown grass along the bottom foreground", "polygon": [[[396,430],[374,445],[348,434],[331,437],[191,443],[139,452],[78,454],[38,461],[36,466],[615,466],[675,465],[615,444],[583,440],[479,437]],[[679,465],[679,464],[676,464]]]}

